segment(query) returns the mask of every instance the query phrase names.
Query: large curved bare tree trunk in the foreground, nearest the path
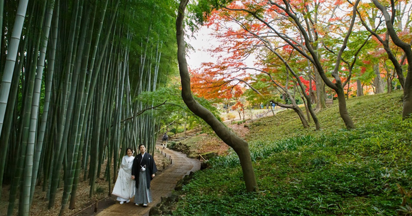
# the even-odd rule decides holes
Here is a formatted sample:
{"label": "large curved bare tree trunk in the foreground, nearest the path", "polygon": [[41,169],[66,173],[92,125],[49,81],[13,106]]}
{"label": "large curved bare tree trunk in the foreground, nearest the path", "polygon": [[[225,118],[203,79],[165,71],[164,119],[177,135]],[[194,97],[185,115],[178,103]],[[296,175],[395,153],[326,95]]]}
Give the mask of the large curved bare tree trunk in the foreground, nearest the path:
{"label": "large curved bare tree trunk in the foreground, nearest the path", "polygon": [[218,119],[216,119],[216,117],[209,110],[201,106],[201,104],[198,104],[192,96],[192,91],[190,89],[190,75],[187,70],[187,62],[185,57],[185,40],[183,33],[183,19],[187,2],[188,0],[181,1],[176,19],[176,39],[178,45],[177,58],[179,61],[179,72],[181,75],[183,101],[185,101],[187,107],[192,110],[195,115],[205,120],[220,137],[220,139],[232,147],[236,154],[238,154],[240,165],[242,166],[246,189],[247,191],[256,191],[258,189],[258,184],[255,178],[255,171],[253,171],[248,143],[239,136],[236,136],[236,134],[233,134],[233,132],[230,132],[230,130],[228,130],[223,123],[218,121]]}

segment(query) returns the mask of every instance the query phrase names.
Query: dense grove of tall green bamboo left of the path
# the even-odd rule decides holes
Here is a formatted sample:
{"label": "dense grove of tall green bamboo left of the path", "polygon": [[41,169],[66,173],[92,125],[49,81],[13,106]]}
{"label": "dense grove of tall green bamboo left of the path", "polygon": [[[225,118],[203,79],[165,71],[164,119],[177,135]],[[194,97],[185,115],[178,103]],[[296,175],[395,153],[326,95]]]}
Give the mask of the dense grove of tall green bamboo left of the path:
{"label": "dense grove of tall green bamboo left of the path", "polygon": [[80,181],[89,181],[90,196],[96,178],[111,188],[108,173],[116,176],[126,147],[154,151],[161,119],[142,110],[157,104],[136,98],[177,73],[172,3],[0,1],[0,187],[10,184],[8,215],[30,214],[35,185],[49,208],[61,202],[62,215],[75,207]]}

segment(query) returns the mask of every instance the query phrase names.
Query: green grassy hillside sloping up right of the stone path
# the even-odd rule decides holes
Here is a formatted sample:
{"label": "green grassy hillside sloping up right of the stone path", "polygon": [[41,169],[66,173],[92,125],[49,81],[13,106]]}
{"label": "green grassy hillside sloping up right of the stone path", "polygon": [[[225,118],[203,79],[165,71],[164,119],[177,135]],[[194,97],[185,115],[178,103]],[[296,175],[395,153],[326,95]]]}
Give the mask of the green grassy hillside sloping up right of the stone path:
{"label": "green grassy hillside sloping up right of the stone path", "polygon": [[258,192],[246,192],[230,152],[195,173],[173,214],[407,215],[411,197],[400,188],[412,194],[412,121],[400,119],[401,94],[347,101],[350,131],[337,104],[318,113],[320,131],[302,128],[290,110],[251,123]]}

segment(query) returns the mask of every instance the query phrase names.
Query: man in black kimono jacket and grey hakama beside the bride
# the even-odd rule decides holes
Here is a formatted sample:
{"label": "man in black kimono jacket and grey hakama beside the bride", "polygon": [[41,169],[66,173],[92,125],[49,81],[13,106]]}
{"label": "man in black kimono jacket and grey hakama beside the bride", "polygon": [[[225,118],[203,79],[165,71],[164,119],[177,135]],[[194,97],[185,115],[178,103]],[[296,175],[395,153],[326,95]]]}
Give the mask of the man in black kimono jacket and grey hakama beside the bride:
{"label": "man in black kimono jacket and grey hakama beside the bride", "polygon": [[136,180],[135,205],[148,206],[152,202],[150,181],[155,178],[157,167],[153,157],[146,152],[146,146],[139,145],[140,154],[133,160],[132,179]]}

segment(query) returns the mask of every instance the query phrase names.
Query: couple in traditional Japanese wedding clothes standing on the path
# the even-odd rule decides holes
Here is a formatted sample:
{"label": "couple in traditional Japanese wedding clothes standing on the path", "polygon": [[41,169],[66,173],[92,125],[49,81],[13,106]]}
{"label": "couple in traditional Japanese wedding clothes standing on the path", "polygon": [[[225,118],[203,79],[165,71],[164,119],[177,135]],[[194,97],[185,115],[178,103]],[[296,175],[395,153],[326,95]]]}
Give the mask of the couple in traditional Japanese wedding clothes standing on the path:
{"label": "couple in traditional Japanese wedding clothes standing on the path", "polygon": [[155,178],[157,167],[153,157],[146,152],[146,146],[139,145],[137,156],[133,156],[133,150],[128,147],[126,156],[122,158],[119,174],[113,188],[113,195],[117,195],[120,204],[130,202],[135,197],[135,205],[148,206],[152,202],[150,193],[150,181]]}

